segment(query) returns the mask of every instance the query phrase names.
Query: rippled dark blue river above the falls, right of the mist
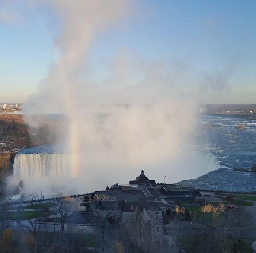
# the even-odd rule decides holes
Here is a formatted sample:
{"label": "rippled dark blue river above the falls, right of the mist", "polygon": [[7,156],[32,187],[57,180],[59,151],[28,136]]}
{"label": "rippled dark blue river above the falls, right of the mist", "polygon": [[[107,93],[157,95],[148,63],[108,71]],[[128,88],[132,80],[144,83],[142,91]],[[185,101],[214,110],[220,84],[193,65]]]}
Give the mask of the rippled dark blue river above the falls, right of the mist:
{"label": "rippled dark blue river above the falls, right of the mist", "polygon": [[[236,129],[240,124],[246,128]],[[194,142],[195,149],[218,155],[221,168],[183,183],[204,190],[256,191],[256,173],[232,170],[256,164],[256,121],[200,116]]]}

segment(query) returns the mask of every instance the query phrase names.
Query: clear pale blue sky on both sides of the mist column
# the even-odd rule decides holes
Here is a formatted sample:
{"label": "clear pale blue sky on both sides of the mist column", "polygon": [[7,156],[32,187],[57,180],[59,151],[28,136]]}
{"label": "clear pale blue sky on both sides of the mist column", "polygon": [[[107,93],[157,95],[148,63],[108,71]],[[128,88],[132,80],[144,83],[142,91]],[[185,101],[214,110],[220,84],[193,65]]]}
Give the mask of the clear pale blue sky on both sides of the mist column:
{"label": "clear pale blue sky on both sides of the mist column", "polygon": [[[13,9],[19,16],[0,20],[0,102],[26,101],[58,57],[53,39],[61,24],[54,13],[43,5]],[[179,85],[221,73],[233,94],[227,102],[256,103],[255,0],[143,0],[134,9],[132,20],[95,36],[88,58],[97,76],[106,74],[104,61],[129,48],[144,62],[179,63],[189,72]]]}

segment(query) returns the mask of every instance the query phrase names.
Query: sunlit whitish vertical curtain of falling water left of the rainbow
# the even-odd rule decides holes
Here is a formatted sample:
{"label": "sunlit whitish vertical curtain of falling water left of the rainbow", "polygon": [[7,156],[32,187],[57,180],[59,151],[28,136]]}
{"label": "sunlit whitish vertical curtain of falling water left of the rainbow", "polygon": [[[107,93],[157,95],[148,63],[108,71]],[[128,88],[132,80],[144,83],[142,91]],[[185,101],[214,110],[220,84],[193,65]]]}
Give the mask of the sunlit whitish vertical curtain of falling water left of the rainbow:
{"label": "sunlit whitish vertical curtain of falling water left of the rainbow", "polygon": [[71,159],[67,154],[18,153],[14,159],[13,174],[22,180],[68,177],[71,175]]}

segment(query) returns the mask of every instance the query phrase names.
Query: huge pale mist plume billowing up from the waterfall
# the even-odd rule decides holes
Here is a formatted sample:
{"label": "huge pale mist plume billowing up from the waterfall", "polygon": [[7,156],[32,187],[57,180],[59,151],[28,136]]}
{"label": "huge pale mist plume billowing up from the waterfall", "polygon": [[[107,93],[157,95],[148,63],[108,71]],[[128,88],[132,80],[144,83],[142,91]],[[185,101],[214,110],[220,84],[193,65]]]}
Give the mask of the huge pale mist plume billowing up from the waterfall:
{"label": "huge pale mist plume billowing up from the waterfall", "polygon": [[141,169],[157,182],[164,174],[176,174],[172,183],[185,179],[179,161],[195,126],[196,103],[171,79],[168,67],[161,61],[145,63],[123,47],[110,60],[107,78],[99,81],[83,74],[90,68],[86,60],[95,34],[128,20],[133,2],[46,3],[62,25],[54,41],[60,57],[28,101],[35,106],[26,108],[25,118],[31,125],[29,113],[67,114],[69,130],[59,139],[71,154],[73,172],[71,179],[58,179],[59,183],[76,187],[71,193],[91,191],[128,183]]}

